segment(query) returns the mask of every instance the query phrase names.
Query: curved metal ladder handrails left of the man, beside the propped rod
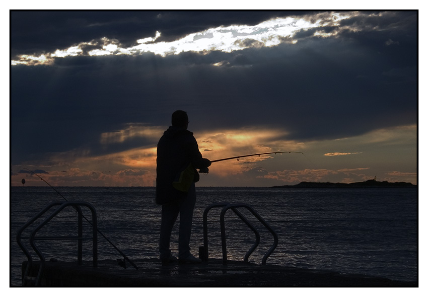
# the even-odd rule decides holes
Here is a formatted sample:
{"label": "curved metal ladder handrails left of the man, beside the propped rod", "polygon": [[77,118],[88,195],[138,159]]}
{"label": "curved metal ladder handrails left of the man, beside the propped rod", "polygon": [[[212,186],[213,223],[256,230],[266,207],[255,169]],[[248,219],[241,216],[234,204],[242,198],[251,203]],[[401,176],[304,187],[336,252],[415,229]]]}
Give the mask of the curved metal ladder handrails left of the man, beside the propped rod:
{"label": "curved metal ladder handrails left of the man, beside the propped rod", "polygon": [[[33,224],[37,219],[39,219],[43,214],[45,214],[47,211],[49,211],[52,207],[58,206],[48,217],[46,217],[41,223],[39,223],[36,227],[34,227],[30,233],[29,237],[22,237],[23,231],[29,227],[31,224]],[[46,225],[51,219],[53,219],[59,212],[61,212],[65,207],[72,206],[74,207],[78,212],[78,235],[77,236],[37,236],[36,233],[44,226]],[[81,206],[88,207],[91,210],[92,213],[92,237],[83,237],[83,214]],[[37,247],[36,242],[37,240],[78,240],[78,264],[82,264],[82,251],[83,251],[83,240],[92,240],[92,257],[93,257],[93,266],[98,266],[98,240],[97,240],[97,212],[95,211],[95,208],[88,202],[73,202],[73,201],[67,201],[67,202],[52,202],[49,205],[47,205],[44,209],[42,209],[38,214],[36,214],[34,217],[29,219],[17,232],[16,235],[17,243],[20,246],[21,250],[26,255],[28,261],[27,261],[27,267],[25,268],[25,272],[22,278],[22,284],[23,286],[28,285],[34,285],[38,286],[40,285],[40,280],[43,274],[43,269],[45,267],[45,257],[43,256],[40,249]],[[27,239],[29,240],[29,243],[31,247],[33,248],[33,251],[37,254],[37,256],[40,258],[40,266],[39,271],[37,273],[37,276],[30,276],[31,271],[31,265],[33,264],[33,258],[28,251],[28,249],[23,244],[22,240]]]}

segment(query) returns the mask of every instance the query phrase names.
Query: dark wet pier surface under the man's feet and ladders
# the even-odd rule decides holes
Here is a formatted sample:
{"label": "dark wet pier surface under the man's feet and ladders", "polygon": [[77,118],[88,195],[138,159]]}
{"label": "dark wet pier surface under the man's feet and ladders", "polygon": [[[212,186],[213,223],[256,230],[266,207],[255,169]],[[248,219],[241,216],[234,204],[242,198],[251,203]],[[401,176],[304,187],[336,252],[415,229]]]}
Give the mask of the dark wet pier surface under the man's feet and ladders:
{"label": "dark wet pier surface under the man's feet and ladders", "polygon": [[[98,261],[78,265],[76,262],[46,262],[41,286],[47,287],[417,287],[417,282],[394,281],[356,274],[339,274],[330,270],[300,269],[278,265],[256,265],[220,259],[208,263],[174,264],[162,267],[158,259],[132,260],[138,270],[127,263]],[[27,261],[22,264],[24,273]],[[39,262],[33,262],[37,275]]]}

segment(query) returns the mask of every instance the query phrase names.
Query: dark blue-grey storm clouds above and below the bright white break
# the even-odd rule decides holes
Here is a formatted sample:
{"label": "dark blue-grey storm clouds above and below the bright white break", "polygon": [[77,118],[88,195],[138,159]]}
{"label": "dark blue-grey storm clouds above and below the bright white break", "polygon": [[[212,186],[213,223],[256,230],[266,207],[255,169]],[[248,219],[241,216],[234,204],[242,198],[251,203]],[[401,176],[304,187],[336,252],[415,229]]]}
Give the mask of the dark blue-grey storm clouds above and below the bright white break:
{"label": "dark blue-grey storm clouds above and below the bright white break", "polygon": [[[22,30],[36,21],[34,15],[24,15],[27,25],[18,22],[25,19],[22,15],[15,18]],[[159,12],[42,15],[34,32],[44,29],[51,34],[32,36],[30,31],[24,36],[12,27],[15,53],[65,48],[104,33],[132,43],[170,28],[162,30],[167,32],[163,36],[173,39],[220,24],[258,23],[272,16],[269,12],[161,12],[160,21]],[[166,128],[171,112],[178,108],[187,110],[193,131],[264,126],[287,130],[290,139],[302,141],[415,124],[416,19],[407,12],[400,16],[392,16],[396,26],[378,21],[376,26],[384,28],[379,32],[369,30],[374,20],[363,16],[347,25],[367,27],[364,34],[344,30],[338,37],[320,38],[314,36],[315,30],[307,30],[297,34],[297,44],[232,53],[83,56],[57,58],[49,67],[14,66],[12,161],[77,148],[77,154],[97,155],[154,145],[153,140],[140,137],[103,147],[100,135],[123,129],[127,123]],[[181,22],[183,17],[188,22]],[[130,27],[139,29],[118,33]]]}

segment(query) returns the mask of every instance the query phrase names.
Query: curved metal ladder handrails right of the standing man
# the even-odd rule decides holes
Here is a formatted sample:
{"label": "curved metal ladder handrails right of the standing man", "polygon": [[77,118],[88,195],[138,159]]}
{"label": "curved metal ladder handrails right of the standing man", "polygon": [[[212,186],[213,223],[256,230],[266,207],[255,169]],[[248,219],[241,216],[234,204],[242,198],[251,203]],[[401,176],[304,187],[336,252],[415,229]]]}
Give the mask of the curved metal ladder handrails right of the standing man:
{"label": "curved metal ladder handrails right of the standing man", "polygon": [[250,205],[244,204],[244,203],[231,204],[228,202],[222,202],[222,203],[211,204],[205,208],[205,210],[203,212],[203,247],[199,247],[199,258],[201,258],[205,262],[208,261],[208,223],[207,223],[207,216],[208,216],[208,212],[212,208],[215,208],[215,207],[223,207],[222,212],[220,214],[220,227],[221,227],[221,233],[222,233],[223,265],[227,265],[225,214],[229,209],[232,209],[232,211],[254,232],[254,234],[256,236],[255,243],[249,249],[249,251],[245,254],[244,262],[246,262],[246,263],[248,262],[248,258],[254,252],[254,250],[257,248],[257,246],[260,243],[260,233],[254,227],[254,225],[251,224],[251,222],[248,221],[247,218],[237,209],[240,207],[248,209],[266,227],[266,229],[273,235],[273,245],[270,247],[270,249],[267,251],[267,253],[264,255],[264,257],[262,259],[262,265],[265,265],[267,258],[270,256],[270,254],[272,254],[272,252],[275,250],[276,246],[278,245],[278,235],[269,226],[269,224]]}

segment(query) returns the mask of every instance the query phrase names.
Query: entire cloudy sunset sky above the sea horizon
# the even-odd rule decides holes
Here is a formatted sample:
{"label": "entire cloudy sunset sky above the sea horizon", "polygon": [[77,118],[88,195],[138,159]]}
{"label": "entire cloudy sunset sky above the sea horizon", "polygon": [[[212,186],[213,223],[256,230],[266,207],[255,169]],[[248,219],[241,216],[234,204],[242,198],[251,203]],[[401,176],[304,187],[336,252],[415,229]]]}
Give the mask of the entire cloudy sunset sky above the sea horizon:
{"label": "entire cloudy sunset sky above the sea horizon", "polygon": [[154,186],[187,111],[197,186],[417,184],[416,11],[11,11],[11,185]]}

